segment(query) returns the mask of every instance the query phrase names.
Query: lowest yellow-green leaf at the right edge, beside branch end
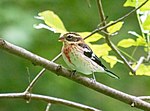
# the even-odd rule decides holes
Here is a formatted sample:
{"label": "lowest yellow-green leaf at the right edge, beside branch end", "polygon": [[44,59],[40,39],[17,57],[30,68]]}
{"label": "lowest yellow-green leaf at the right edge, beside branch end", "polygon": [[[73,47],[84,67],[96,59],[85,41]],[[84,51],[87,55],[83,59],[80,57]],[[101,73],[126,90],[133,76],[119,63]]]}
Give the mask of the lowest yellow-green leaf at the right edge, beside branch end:
{"label": "lowest yellow-green leaf at the right edge, beside branch end", "polygon": [[[135,67],[135,66],[136,65],[134,64],[132,67]],[[136,71],[136,75],[150,76],[150,65],[141,64]]]}

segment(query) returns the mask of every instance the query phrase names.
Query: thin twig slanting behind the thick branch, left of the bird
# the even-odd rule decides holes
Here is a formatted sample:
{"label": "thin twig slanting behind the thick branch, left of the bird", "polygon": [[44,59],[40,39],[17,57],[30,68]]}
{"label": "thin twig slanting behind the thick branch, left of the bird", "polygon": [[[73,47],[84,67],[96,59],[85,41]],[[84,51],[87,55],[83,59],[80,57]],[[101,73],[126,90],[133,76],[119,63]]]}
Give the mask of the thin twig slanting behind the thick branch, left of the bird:
{"label": "thin twig slanting behind the thick branch, left of the bird", "polygon": [[[61,57],[61,54],[58,54],[53,60],[52,62],[56,61],[57,59],[59,59]],[[31,81],[31,83],[29,84],[29,86],[27,87],[27,89],[25,90],[26,93],[29,93],[33,87],[33,85],[37,82],[37,80],[44,74],[44,72],[46,71],[45,68],[43,68],[38,74],[37,76]]]}

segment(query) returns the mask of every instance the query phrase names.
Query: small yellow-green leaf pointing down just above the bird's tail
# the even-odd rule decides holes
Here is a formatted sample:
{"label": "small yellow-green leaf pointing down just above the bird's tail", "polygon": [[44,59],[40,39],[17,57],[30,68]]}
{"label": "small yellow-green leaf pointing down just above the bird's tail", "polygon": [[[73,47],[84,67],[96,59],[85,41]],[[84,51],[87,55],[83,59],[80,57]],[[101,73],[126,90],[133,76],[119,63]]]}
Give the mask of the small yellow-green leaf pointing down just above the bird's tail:
{"label": "small yellow-green leaf pointing down just above the bird's tail", "polygon": [[110,64],[110,67],[113,68],[114,65],[117,63],[118,59],[116,56],[102,56],[102,58]]}

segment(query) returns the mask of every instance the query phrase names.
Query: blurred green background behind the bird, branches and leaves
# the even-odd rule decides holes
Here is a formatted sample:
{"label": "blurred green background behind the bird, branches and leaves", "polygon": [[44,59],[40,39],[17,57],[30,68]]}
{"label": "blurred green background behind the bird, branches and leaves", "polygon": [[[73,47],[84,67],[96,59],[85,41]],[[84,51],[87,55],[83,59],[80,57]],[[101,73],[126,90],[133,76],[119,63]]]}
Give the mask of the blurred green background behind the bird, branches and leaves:
{"label": "blurred green background behind the bird, branches and leaves", "polygon": [[[41,21],[34,19],[39,12],[54,11],[64,22],[68,31],[92,31],[99,24],[98,9],[95,0],[0,0],[0,37],[21,46],[37,55],[52,60],[61,50],[58,42],[59,34],[45,29],[34,29],[33,24]],[[102,0],[108,21],[116,20],[132,8],[125,8],[125,0]],[[140,34],[135,14],[125,19],[119,34],[112,38],[117,43],[123,38],[132,37],[129,30]],[[100,41],[100,43],[105,41]],[[129,54],[132,48],[125,50]],[[141,56],[142,49],[136,51],[136,59]],[[112,52],[112,54],[114,54]],[[109,64],[102,60],[109,67]],[[57,63],[66,66],[62,58]],[[67,67],[67,66],[66,66]],[[31,80],[41,70],[29,61],[0,50],[0,93],[22,92]],[[117,64],[113,69],[120,80],[114,80],[104,74],[96,74],[97,81],[135,96],[150,94],[150,79],[146,76],[129,76],[128,68]],[[30,76],[29,76],[30,75]],[[140,111],[131,108],[118,100],[97,93],[66,78],[56,76],[47,71],[33,88],[33,93],[44,94],[79,102],[103,111]],[[0,111],[44,111],[47,104],[42,101],[31,100],[26,103],[22,99],[1,99]],[[78,109],[63,105],[52,104],[50,111],[78,111]]]}

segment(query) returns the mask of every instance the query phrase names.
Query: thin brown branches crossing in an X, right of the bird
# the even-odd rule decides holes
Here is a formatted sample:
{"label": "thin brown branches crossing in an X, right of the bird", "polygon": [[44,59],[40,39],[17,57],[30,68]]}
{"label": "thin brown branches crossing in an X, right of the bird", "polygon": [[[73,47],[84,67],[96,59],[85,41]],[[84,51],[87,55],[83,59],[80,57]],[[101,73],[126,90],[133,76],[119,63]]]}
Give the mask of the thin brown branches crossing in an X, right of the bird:
{"label": "thin brown branches crossing in an X, right of the bird", "polygon": [[[100,32],[100,31],[107,31],[106,29],[122,20],[124,20],[125,18],[127,18],[129,15],[131,15],[133,12],[135,12],[136,10],[138,10],[139,8],[141,8],[144,4],[146,4],[148,2],[148,0],[146,0],[145,2],[143,2],[139,7],[133,9],[132,11],[130,11],[129,13],[127,13],[126,15],[122,16],[121,18],[115,20],[113,23],[110,24],[106,24],[105,21],[105,14],[103,12],[103,8],[102,8],[102,4],[101,4],[101,0],[97,0],[97,5],[98,5],[98,11],[99,11],[99,16],[100,16],[100,21],[102,22],[102,27],[95,29],[92,31],[91,34],[89,34],[88,36],[86,36],[84,39],[87,39],[88,37],[90,37],[91,35]],[[105,40],[106,43],[111,47],[111,49],[121,58],[121,60],[124,62],[124,64],[130,69],[130,71],[135,75],[136,70],[134,70],[130,64],[128,63],[128,61],[126,60],[126,58],[119,52],[119,50],[115,47],[115,45],[109,40],[109,35],[104,33],[105,35]]]}

